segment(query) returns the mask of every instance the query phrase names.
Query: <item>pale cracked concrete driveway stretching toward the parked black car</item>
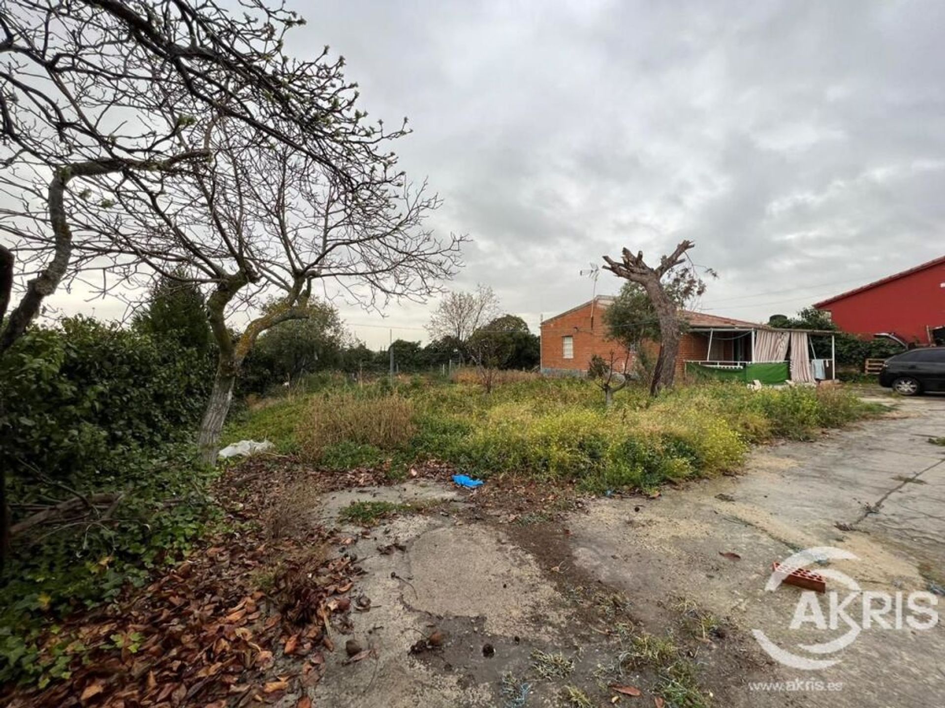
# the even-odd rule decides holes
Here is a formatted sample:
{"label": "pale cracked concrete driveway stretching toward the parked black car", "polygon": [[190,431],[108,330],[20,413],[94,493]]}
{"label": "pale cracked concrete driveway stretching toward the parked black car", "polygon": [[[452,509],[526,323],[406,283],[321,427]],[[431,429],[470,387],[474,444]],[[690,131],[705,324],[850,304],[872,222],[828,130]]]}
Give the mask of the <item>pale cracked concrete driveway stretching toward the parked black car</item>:
{"label": "pale cracked concrete driveway stretching toward the parked black car", "polygon": [[[665,621],[664,598],[682,595],[730,617],[742,631],[763,630],[785,648],[799,651],[799,645],[824,641],[809,625],[789,628],[799,591],[782,586],[766,593],[771,563],[801,548],[843,548],[858,560],[830,566],[864,590],[925,590],[923,566],[945,565],[945,464],[941,448],[926,442],[945,435],[945,417],[936,413],[941,402],[908,401],[898,415],[834,431],[813,444],[760,448],[737,478],[667,490],[657,500],[596,502],[588,514],[568,520],[576,561],[624,589],[643,615]],[[924,438],[917,439],[915,430]],[[872,511],[864,514],[867,506]],[[840,531],[836,522],[850,523],[855,531]],[[730,561],[722,552],[741,560]],[[852,606],[862,609],[858,600]],[[738,690],[729,692],[727,705],[945,704],[943,654],[941,623],[925,631],[874,627],[825,670],[772,662],[779,680],[814,678],[843,683],[843,690],[757,693],[748,690],[744,677],[733,676]]]}

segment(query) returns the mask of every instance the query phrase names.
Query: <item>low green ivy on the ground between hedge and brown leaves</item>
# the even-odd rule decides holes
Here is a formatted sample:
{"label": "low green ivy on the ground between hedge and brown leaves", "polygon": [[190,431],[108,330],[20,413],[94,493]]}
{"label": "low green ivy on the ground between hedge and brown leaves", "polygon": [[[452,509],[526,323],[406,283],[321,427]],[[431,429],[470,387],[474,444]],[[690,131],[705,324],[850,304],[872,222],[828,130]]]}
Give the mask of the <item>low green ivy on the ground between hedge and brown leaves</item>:
{"label": "low green ivy on the ground between hedge and brown leaves", "polygon": [[[63,677],[70,654],[84,648],[63,641],[41,654],[43,629],[117,598],[129,582],[144,584],[151,569],[180,560],[191,548],[215,515],[206,493],[212,473],[192,464],[192,451],[169,446],[126,455],[120,477],[94,480],[96,492],[121,495],[108,518],[90,516],[14,538],[0,584],[0,684],[43,685]],[[17,486],[22,483],[16,480],[11,496],[27,496]],[[37,482],[28,493],[62,496],[55,484]]]}

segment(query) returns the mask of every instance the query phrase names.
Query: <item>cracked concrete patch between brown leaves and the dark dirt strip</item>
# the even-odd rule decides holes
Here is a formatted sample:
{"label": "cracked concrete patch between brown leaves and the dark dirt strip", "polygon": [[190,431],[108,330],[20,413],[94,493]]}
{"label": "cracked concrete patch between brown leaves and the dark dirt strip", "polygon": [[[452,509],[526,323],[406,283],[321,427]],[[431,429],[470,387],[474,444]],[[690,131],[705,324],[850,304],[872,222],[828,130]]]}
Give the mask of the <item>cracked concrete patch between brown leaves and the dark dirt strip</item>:
{"label": "cracked concrete patch between brown leaves and the dark dirt strip", "polygon": [[[394,541],[404,551],[376,550]],[[502,673],[527,666],[532,642],[553,640],[565,621],[561,598],[535,560],[494,528],[405,515],[352,551],[366,571],[352,597],[370,598],[370,610],[352,613],[351,636],[373,655],[348,664],[341,649],[348,635],[336,639],[316,705],[494,705]],[[434,657],[409,652],[435,630],[446,640]],[[484,655],[486,644],[494,654]]]}

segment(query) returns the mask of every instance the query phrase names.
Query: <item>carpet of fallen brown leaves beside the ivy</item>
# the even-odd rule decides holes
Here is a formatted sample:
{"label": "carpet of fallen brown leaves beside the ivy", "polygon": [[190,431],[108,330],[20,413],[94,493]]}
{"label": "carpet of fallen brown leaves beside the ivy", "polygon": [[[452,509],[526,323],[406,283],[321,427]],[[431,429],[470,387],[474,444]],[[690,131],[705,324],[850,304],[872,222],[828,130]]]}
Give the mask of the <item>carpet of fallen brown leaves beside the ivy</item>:
{"label": "carpet of fallen brown leaves beside the ivy", "polygon": [[291,485],[325,481],[272,461],[229,470],[215,490],[229,530],[121,602],[71,617],[47,642],[67,637],[84,647],[71,676],[0,700],[9,708],[223,708],[303,695],[321,678],[333,633],[350,626],[347,594],[361,571],[330,553],[345,543],[317,524],[272,539],[263,519]]}

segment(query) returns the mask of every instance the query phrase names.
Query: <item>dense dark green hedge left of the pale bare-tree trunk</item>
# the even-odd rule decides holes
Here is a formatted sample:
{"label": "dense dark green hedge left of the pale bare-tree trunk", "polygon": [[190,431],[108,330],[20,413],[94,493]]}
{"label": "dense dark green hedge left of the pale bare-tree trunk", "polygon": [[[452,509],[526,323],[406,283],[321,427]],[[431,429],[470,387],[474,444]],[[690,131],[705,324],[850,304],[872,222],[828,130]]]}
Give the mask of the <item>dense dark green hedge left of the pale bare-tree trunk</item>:
{"label": "dense dark green hedge left of the pale bare-tree trunk", "polygon": [[128,329],[83,317],[32,329],[0,359],[0,464],[27,478],[108,472],[192,430],[212,378],[207,355]]}

